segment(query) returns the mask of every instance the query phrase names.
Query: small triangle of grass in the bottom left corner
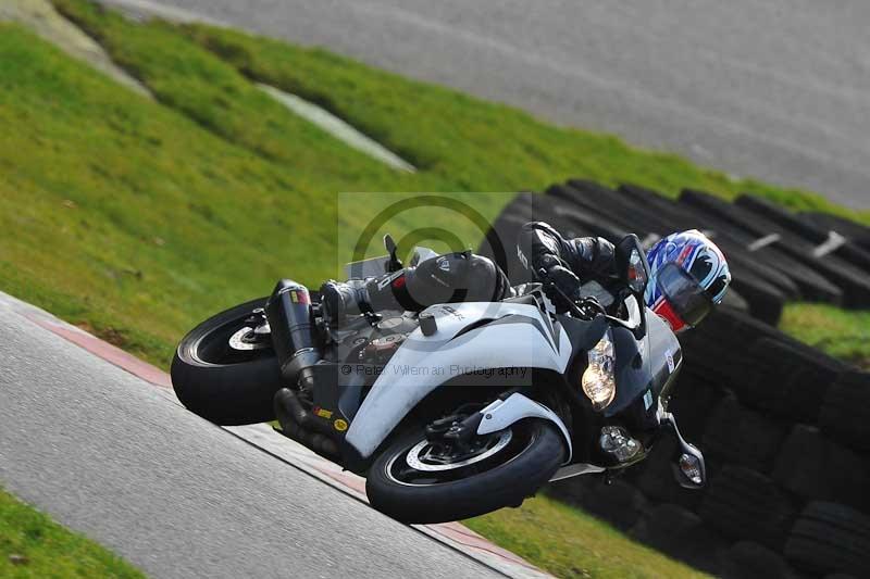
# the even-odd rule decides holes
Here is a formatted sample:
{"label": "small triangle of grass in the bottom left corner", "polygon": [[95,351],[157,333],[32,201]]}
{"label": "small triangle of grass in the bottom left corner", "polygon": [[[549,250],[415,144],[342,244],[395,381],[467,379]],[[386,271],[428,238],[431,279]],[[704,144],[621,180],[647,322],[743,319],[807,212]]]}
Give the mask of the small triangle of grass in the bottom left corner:
{"label": "small triangle of grass in the bottom left corner", "polygon": [[121,557],[0,489],[0,577],[145,576]]}

